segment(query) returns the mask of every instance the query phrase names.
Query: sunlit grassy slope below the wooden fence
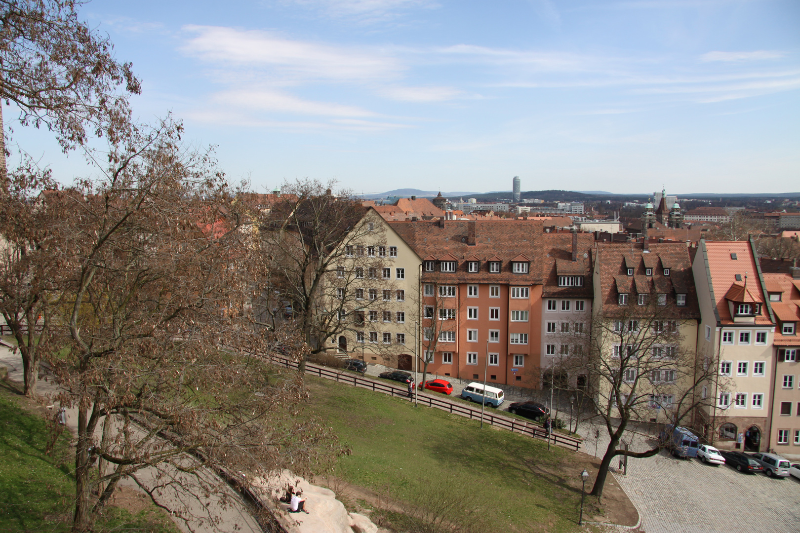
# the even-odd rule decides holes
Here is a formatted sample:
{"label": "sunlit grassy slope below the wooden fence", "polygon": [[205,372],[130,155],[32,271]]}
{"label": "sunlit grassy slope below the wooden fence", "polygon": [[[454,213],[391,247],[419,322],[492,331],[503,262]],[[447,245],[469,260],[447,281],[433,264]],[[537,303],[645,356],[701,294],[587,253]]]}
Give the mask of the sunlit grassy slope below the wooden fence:
{"label": "sunlit grassy slope below the wooden fence", "polygon": [[[312,408],[331,424],[353,455],[337,475],[400,499],[414,480],[447,477],[452,491],[485,495],[495,531],[576,531],[580,492],[558,475],[569,451],[408,400],[307,378]],[[567,470],[570,471],[567,466]]]}

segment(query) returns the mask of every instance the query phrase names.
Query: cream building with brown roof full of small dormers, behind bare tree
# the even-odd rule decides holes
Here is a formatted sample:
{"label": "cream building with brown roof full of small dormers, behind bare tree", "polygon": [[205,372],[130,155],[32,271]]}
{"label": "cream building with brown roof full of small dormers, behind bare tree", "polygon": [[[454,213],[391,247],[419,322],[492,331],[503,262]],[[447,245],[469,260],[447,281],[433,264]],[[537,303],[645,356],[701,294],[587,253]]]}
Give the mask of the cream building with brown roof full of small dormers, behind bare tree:
{"label": "cream building with brown roof full of small dormers, behind bare tree", "polygon": [[599,404],[615,402],[608,389],[621,379],[638,420],[668,424],[696,360],[700,310],[689,251],[676,242],[598,242],[593,262],[593,338],[621,374],[599,372]]}

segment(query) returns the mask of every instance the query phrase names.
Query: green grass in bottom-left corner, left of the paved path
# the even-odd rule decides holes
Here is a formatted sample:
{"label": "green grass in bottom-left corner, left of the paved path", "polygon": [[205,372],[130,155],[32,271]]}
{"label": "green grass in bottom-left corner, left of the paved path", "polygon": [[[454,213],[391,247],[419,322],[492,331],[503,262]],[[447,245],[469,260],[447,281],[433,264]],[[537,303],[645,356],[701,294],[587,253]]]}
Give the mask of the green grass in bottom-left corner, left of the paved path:
{"label": "green grass in bottom-left corner, left of the paved path", "polygon": [[[42,416],[20,408],[14,384],[0,386],[0,531],[69,531],[73,509],[74,451],[63,433],[46,453],[50,433]],[[177,533],[154,505],[136,515],[108,507],[95,531]]]}

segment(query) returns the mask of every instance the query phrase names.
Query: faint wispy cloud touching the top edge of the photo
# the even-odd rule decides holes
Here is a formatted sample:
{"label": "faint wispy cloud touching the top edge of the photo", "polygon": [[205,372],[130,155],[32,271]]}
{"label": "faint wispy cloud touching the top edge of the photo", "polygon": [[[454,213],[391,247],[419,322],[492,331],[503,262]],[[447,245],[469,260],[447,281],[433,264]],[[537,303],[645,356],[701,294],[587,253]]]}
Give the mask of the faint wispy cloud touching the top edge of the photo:
{"label": "faint wispy cloud touching the top edge of the photo", "polygon": [[300,6],[329,18],[361,23],[386,22],[411,10],[435,9],[433,0],[278,0],[283,6]]}

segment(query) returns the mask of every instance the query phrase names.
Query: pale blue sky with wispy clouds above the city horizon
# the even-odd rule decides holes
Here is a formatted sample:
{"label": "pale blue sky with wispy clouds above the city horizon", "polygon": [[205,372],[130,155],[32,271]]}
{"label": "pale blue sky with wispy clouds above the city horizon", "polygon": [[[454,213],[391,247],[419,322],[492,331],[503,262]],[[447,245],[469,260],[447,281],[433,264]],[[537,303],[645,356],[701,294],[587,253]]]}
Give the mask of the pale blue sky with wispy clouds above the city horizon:
{"label": "pale blue sky with wispy clouds above the city horizon", "polygon": [[[800,190],[800,2],[264,0],[82,7],[253,188]],[[6,115],[10,118],[10,114]],[[62,181],[46,132],[14,141]]]}

